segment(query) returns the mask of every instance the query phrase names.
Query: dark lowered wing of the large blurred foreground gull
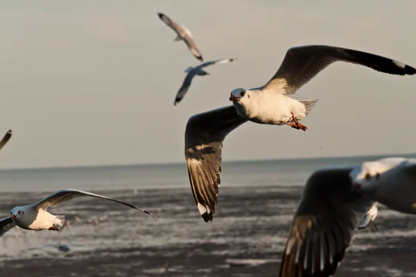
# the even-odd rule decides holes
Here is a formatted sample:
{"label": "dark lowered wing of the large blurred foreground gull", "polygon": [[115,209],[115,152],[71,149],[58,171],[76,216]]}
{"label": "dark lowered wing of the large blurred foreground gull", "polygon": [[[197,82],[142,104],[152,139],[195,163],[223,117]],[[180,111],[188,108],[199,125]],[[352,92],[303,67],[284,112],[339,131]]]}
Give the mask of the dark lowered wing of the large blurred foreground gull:
{"label": "dark lowered wing of the large blurred foreground gull", "polygon": [[331,276],[335,273],[358,220],[374,204],[361,193],[352,192],[351,170],[318,170],[306,181],[279,276]]}

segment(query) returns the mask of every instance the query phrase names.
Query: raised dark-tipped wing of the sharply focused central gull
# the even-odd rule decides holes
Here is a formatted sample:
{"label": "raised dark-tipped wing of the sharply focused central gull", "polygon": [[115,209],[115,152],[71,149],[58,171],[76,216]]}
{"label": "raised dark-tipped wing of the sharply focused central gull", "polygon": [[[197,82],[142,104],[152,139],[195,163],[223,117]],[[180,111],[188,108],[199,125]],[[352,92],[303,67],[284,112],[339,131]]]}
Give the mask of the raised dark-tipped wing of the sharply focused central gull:
{"label": "raised dark-tipped wing of the sharply focused central gull", "polygon": [[413,75],[416,69],[370,53],[325,45],[297,46],[286,52],[279,70],[264,89],[293,94],[333,62],[350,62],[395,75]]}

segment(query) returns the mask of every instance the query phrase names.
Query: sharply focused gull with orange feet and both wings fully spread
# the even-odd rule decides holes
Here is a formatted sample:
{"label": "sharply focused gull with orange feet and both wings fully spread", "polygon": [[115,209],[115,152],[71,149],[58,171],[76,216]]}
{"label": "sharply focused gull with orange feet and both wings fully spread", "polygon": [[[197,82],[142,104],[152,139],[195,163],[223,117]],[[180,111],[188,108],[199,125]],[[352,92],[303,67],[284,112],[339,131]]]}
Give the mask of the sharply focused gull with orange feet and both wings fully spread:
{"label": "sharply focused gull with orange feet and both wings fully spread", "polygon": [[286,95],[295,93],[336,61],[395,75],[416,73],[411,66],[370,53],[335,46],[297,46],[287,51],[279,70],[263,87],[234,89],[229,97],[233,105],[191,116],[185,130],[185,159],[193,197],[205,222],[211,221],[215,213],[225,136],[249,120],[306,129],[298,121],[317,100],[297,101]]}

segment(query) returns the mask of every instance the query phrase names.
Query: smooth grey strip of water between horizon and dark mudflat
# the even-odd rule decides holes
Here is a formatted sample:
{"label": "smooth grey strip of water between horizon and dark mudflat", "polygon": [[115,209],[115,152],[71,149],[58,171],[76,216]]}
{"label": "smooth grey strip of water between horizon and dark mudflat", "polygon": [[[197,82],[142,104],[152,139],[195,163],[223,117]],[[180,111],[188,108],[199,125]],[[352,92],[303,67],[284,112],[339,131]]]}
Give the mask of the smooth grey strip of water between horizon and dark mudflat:
{"label": "smooth grey strip of water between horizon and dark mudflat", "polygon": [[[401,155],[415,157],[413,154]],[[223,163],[222,185],[302,186],[306,178],[322,167],[347,166],[382,157],[343,157]],[[0,191],[121,190],[189,187],[185,163],[80,168],[0,170]]]}

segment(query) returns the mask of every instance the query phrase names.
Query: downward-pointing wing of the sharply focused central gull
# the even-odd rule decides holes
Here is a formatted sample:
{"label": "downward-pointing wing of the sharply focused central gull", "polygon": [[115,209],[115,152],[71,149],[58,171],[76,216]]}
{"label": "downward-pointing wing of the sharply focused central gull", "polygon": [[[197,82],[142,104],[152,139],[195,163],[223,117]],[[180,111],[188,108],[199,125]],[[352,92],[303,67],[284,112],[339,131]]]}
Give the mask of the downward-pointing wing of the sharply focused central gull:
{"label": "downward-pointing wing of the sharply focused central gull", "polygon": [[196,114],[188,120],[185,159],[193,197],[205,222],[215,213],[225,136],[246,121],[234,106]]}

